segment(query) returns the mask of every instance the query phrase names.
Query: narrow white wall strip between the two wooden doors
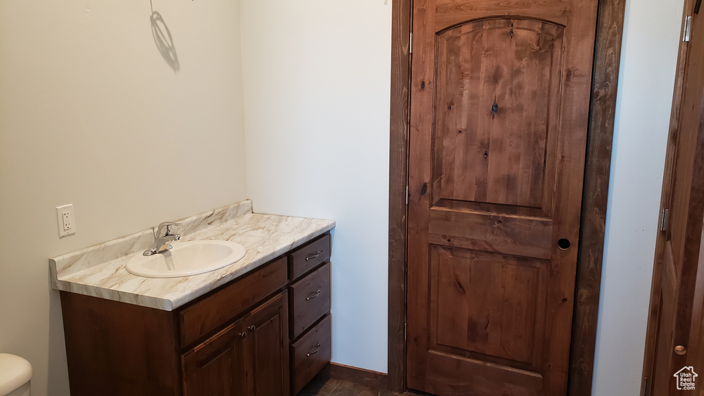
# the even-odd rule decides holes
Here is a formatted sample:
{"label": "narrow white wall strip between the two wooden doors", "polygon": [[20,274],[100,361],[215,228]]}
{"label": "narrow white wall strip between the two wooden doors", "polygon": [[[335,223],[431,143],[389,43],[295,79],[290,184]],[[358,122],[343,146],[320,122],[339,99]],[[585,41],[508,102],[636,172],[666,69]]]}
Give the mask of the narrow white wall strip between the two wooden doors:
{"label": "narrow white wall strip between the two wooden doors", "polygon": [[626,2],[592,395],[639,395],[682,6]]}

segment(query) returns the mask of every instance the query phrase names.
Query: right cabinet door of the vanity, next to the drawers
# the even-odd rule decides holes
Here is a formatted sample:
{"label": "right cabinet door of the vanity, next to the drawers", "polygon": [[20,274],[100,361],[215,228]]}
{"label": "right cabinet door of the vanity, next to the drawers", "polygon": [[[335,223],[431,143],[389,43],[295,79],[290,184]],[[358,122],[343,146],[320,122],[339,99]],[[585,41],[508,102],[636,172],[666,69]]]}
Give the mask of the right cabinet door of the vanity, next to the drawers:
{"label": "right cabinet door of the vanity, next to the drawers", "polygon": [[287,292],[243,319],[246,395],[289,394],[288,320]]}

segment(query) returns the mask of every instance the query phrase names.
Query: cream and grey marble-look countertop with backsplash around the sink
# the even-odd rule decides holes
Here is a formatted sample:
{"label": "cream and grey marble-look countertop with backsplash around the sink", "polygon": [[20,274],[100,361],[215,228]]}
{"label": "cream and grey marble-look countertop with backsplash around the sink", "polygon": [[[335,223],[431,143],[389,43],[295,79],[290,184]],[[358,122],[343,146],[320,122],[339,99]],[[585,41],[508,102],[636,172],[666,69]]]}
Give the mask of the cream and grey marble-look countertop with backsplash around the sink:
{"label": "cream and grey marble-look countertop with backsplash around the sink", "polygon": [[181,221],[182,241],[230,240],[246,249],[239,261],[215,271],[181,278],[142,278],[127,272],[134,254],[151,245],[151,230],[49,259],[51,286],[130,304],[172,311],[303,243],[332,230],[335,222],[254,214],[251,201]]}

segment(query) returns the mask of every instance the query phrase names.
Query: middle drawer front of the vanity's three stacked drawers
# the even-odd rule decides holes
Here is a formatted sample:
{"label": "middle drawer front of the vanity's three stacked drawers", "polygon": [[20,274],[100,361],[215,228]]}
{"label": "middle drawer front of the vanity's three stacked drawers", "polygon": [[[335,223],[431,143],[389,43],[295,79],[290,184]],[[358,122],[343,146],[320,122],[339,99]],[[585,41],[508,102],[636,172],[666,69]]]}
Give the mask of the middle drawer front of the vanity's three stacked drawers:
{"label": "middle drawer front of the vanity's three stacked drawers", "polygon": [[291,285],[291,338],[330,311],[330,263]]}

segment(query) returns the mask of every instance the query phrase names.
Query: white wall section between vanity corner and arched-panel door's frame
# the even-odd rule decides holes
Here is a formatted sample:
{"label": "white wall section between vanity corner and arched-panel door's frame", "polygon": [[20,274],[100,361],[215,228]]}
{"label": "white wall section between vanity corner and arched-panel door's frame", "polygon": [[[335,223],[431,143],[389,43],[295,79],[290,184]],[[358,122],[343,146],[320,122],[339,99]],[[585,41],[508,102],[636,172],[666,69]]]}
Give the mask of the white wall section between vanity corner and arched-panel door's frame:
{"label": "white wall section between vanity corner and arched-panel door's frame", "polygon": [[254,210],[332,218],[332,360],[386,371],[391,3],[242,0]]}

